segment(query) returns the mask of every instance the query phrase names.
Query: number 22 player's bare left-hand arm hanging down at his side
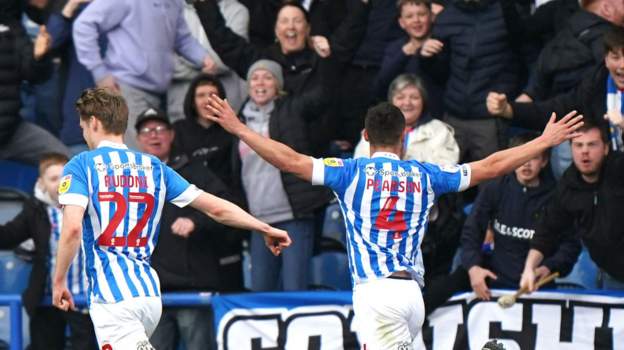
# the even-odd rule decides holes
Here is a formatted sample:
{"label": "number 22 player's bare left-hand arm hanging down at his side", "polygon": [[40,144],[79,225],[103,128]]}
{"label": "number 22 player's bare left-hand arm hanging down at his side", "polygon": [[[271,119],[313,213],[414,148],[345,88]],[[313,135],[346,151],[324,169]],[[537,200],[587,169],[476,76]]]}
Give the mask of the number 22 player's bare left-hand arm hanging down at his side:
{"label": "number 22 player's bare left-hand arm hanging down at his side", "polygon": [[63,311],[76,309],[71,292],[67,289],[67,271],[80,248],[84,212],[84,208],[77,205],[66,205],[63,208],[63,226],[52,280],[52,304]]}

